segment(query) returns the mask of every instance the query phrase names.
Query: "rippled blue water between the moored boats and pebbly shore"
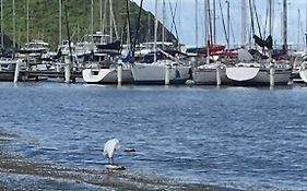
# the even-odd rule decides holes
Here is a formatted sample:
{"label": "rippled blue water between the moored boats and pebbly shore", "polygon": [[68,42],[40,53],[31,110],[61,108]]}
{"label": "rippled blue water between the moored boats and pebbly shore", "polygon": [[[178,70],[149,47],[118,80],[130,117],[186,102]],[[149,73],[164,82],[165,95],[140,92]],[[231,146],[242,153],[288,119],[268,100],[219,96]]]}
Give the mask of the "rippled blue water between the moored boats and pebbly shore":
{"label": "rippled blue water between the moored boats and pebbly shore", "polygon": [[[0,129],[28,158],[256,190],[307,190],[307,87],[0,83]],[[125,153],[134,146],[137,153]]]}

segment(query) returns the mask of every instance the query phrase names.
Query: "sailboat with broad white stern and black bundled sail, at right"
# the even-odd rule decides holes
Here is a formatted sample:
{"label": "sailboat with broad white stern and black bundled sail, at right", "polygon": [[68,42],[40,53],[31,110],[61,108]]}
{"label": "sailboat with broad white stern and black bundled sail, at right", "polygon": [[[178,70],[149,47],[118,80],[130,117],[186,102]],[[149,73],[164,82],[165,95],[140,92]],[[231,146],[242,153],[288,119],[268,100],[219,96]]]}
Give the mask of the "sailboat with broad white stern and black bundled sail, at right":
{"label": "sailboat with broad white stern and black bundled sail, at right", "polygon": [[[287,85],[291,77],[291,67],[287,60],[274,60],[272,58],[273,38],[271,36],[271,4],[269,1],[270,16],[269,16],[269,29],[270,35],[268,38],[261,39],[257,35],[253,35],[255,43],[267,50],[269,56],[262,56],[256,50],[240,49],[238,52],[238,62],[234,65],[226,67],[226,76],[232,81],[234,85]],[[284,0],[286,4],[286,0]],[[285,12],[285,11],[284,11]],[[253,16],[253,15],[251,15]],[[286,22],[284,22],[286,23]],[[286,24],[284,29],[286,28]],[[286,34],[286,32],[285,32]],[[285,35],[286,37],[286,35]],[[284,39],[284,48],[286,47],[286,39]],[[260,56],[260,58],[252,57],[250,52]]]}

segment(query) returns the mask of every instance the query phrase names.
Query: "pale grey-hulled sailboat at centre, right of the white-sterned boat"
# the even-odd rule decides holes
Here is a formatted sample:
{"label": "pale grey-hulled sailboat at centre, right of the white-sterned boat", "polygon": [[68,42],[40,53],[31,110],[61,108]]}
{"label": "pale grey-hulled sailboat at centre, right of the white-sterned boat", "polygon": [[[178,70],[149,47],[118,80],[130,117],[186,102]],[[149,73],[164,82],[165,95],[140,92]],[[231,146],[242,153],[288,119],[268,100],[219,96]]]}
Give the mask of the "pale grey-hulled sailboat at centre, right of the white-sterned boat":
{"label": "pale grey-hulled sailboat at centre, right of the white-sterned boat", "polygon": [[145,55],[139,62],[132,64],[135,84],[184,84],[191,77],[190,65],[180,59],[179,51],[166,51],[157,48],[157,0],[155,1],[154,51]]}

